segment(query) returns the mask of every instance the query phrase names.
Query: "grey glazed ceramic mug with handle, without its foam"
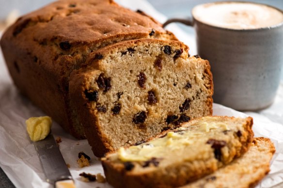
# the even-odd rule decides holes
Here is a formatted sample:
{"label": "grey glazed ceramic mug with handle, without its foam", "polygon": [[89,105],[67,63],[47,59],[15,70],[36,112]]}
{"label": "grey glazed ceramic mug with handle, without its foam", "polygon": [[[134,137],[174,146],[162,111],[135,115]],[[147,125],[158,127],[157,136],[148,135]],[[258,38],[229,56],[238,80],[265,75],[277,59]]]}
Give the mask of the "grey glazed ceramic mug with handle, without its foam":
{"label": "grey glazed ceramic mug with handle, without its foam", "polygon": [[205,24],[193,15],[192,19],[170,19],[163,27],[172,22],[194,27],[198,55],[211,65],[214,102],[240,111],[272,104],[283,64],[283,22],[260,29],[227,29]]}

